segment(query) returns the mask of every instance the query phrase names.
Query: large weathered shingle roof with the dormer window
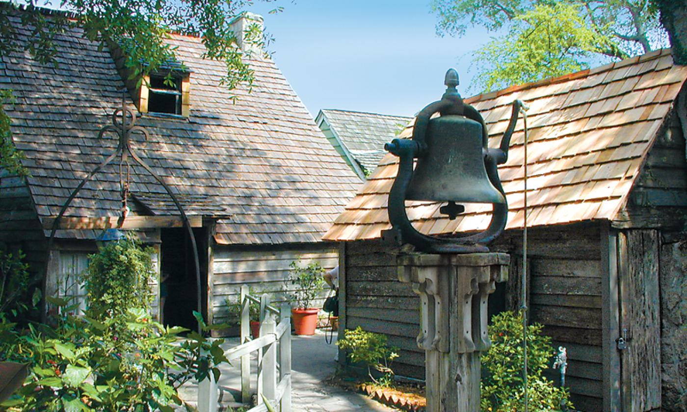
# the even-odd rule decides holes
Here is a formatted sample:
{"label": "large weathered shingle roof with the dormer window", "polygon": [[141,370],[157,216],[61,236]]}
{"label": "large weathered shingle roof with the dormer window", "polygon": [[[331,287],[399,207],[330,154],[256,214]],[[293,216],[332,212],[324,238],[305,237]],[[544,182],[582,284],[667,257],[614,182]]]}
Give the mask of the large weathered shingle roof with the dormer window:
{"label": "large weathered shingle roof with the dormer window", "polygon": [[[20,38],[31,35],[18,18],[12,21]],[[225,64],[201,57],[201,38],[174,35],[170,43],[192,72],[190,116],[143,115],[137,124],[150,138],[134,135],[139,156],[172,186],[188,214],[230,216],[218,221],[219,243],[320,241],[360,183],[280,70],[269,58],[248,60],[252,91],[243,85],[228,91],[220,85]],[[71,29],[56,38],[58,67],[27,52],[0,63],[0,88],[16,98],[8,107],[14,143],[26,156],[27,183],[44,223],[117,145],[98,139],[98,131],[121,107],[124,82],[107,47],[98,46]],[[135,110],[128,95],[126,103]],[[153,214],[177,214],[152,176],[135,163],[129,172],[137,202]],[[121,206],[115,164],[95,175],[65,216],[119,216]]]}

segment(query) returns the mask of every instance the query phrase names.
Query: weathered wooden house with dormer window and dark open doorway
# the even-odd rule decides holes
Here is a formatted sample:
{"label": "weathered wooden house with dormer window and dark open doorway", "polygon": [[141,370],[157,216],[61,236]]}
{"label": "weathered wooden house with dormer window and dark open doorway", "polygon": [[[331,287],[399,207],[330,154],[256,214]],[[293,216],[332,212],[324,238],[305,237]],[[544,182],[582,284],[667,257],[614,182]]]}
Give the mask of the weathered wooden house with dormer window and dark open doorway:
{"label": "weathered wooden house with dormer window and dark open doorway", "polygon": [[[21,12],[10,16],[20,45],[32,36],[32,27],[21,25]],[[47,18],[56,13],[43,12]],[[242,41],[247,20],[262,23],[254,14],[234,22],[241,47],[250,46]],[[97,250],[95,239],[107,227],[133,230],[155,247],[157,271],[168,277],[166,321],[194,328],[198,290],[190,237],[164,187],[131,157],[90,179],[46,250],[68,196],[117,147],[112,135],[98,133],[112,124],[123,95],[136,125],[148,131],[147,137],[133,134],[131,146],[189,216],[199,245],[201,305],[210,322],[227,320],[225,301],[236,299],[244,283],[280,300],[295,260],[333,268],[337,248],[322,235],[360,180],[269,56],[247,54],[254,84],[229,90],[221,84],[225,63],[203,57],[202,38],[174,34],[169,41],[185,65],[171,72],[172,84],[164,81],[169,70],[140,85],[127,82],[122,50],[90,41],[78,28],[56,37],[57,66],[28,52],[3,58],[0,88],[14,95],[5,111],[29,176],[0,174],[0,241],[21,249],[35,273],[47,268],[46,293],[82,299],[76,275]]]}

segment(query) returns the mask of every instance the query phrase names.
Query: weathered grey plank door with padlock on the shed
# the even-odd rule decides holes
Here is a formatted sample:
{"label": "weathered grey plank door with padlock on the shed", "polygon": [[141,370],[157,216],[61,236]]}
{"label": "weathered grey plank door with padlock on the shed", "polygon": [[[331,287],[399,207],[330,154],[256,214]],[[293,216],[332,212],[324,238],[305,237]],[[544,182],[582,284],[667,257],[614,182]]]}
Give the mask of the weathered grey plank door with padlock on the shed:
{"label": "weathered grey plank door with padlock on the shed", "polygon": [[623,411],[661,407],[659,242],[655,230],[618,233],[620,392]]}

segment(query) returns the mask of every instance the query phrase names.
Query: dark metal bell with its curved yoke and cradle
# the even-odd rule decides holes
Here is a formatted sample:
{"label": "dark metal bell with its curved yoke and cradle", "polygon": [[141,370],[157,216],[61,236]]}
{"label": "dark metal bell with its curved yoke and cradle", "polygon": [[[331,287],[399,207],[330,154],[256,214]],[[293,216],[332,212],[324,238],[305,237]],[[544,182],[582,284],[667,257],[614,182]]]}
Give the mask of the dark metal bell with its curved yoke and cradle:
{"label": "dark metal bell with its curved yoke and cradle", "polygon": [[[389,194],[389,218],[401,242],[428,253],[488,252],[491,242],[506,227],[508,203],[497,165],[508,160],[510,137],[523,106],[513,102],[513,115],[499,148],[488,148],[484,119],[465,104],[455,89],[458,72],[449,69],[441,100],[423,108],[415,120],[412,139],[394,139],[385,150],[400,158],[398,174]],[[439,116],[432,117],[435,113]],[[413,168],[414,159],[417,165]],[[478,233],[435,237],[420,233],[408,220],[405,201],[448,202],[439,210],[454,220],[465,207],[458,203],[491,203],[489,226]]]}

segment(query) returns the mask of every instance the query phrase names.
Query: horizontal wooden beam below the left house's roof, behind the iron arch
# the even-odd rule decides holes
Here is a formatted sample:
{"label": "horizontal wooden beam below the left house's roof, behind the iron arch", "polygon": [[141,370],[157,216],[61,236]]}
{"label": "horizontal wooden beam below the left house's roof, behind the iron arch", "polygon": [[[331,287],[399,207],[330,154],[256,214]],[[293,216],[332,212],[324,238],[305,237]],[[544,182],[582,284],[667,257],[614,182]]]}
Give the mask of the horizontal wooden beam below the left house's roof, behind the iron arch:
{"label": "horizontal wooden beam below the left house's roof, behind the iron arch", "polygon": [[[50,230],[55,218],[43,218],[43,229]],[[203,227],[202,216],[188,216],[191,227]],[[63,217],[58,229],[152,229],[157,227],[183,227],[181,216],[128,216],[120,225],[120,218],[114,216]]]}

